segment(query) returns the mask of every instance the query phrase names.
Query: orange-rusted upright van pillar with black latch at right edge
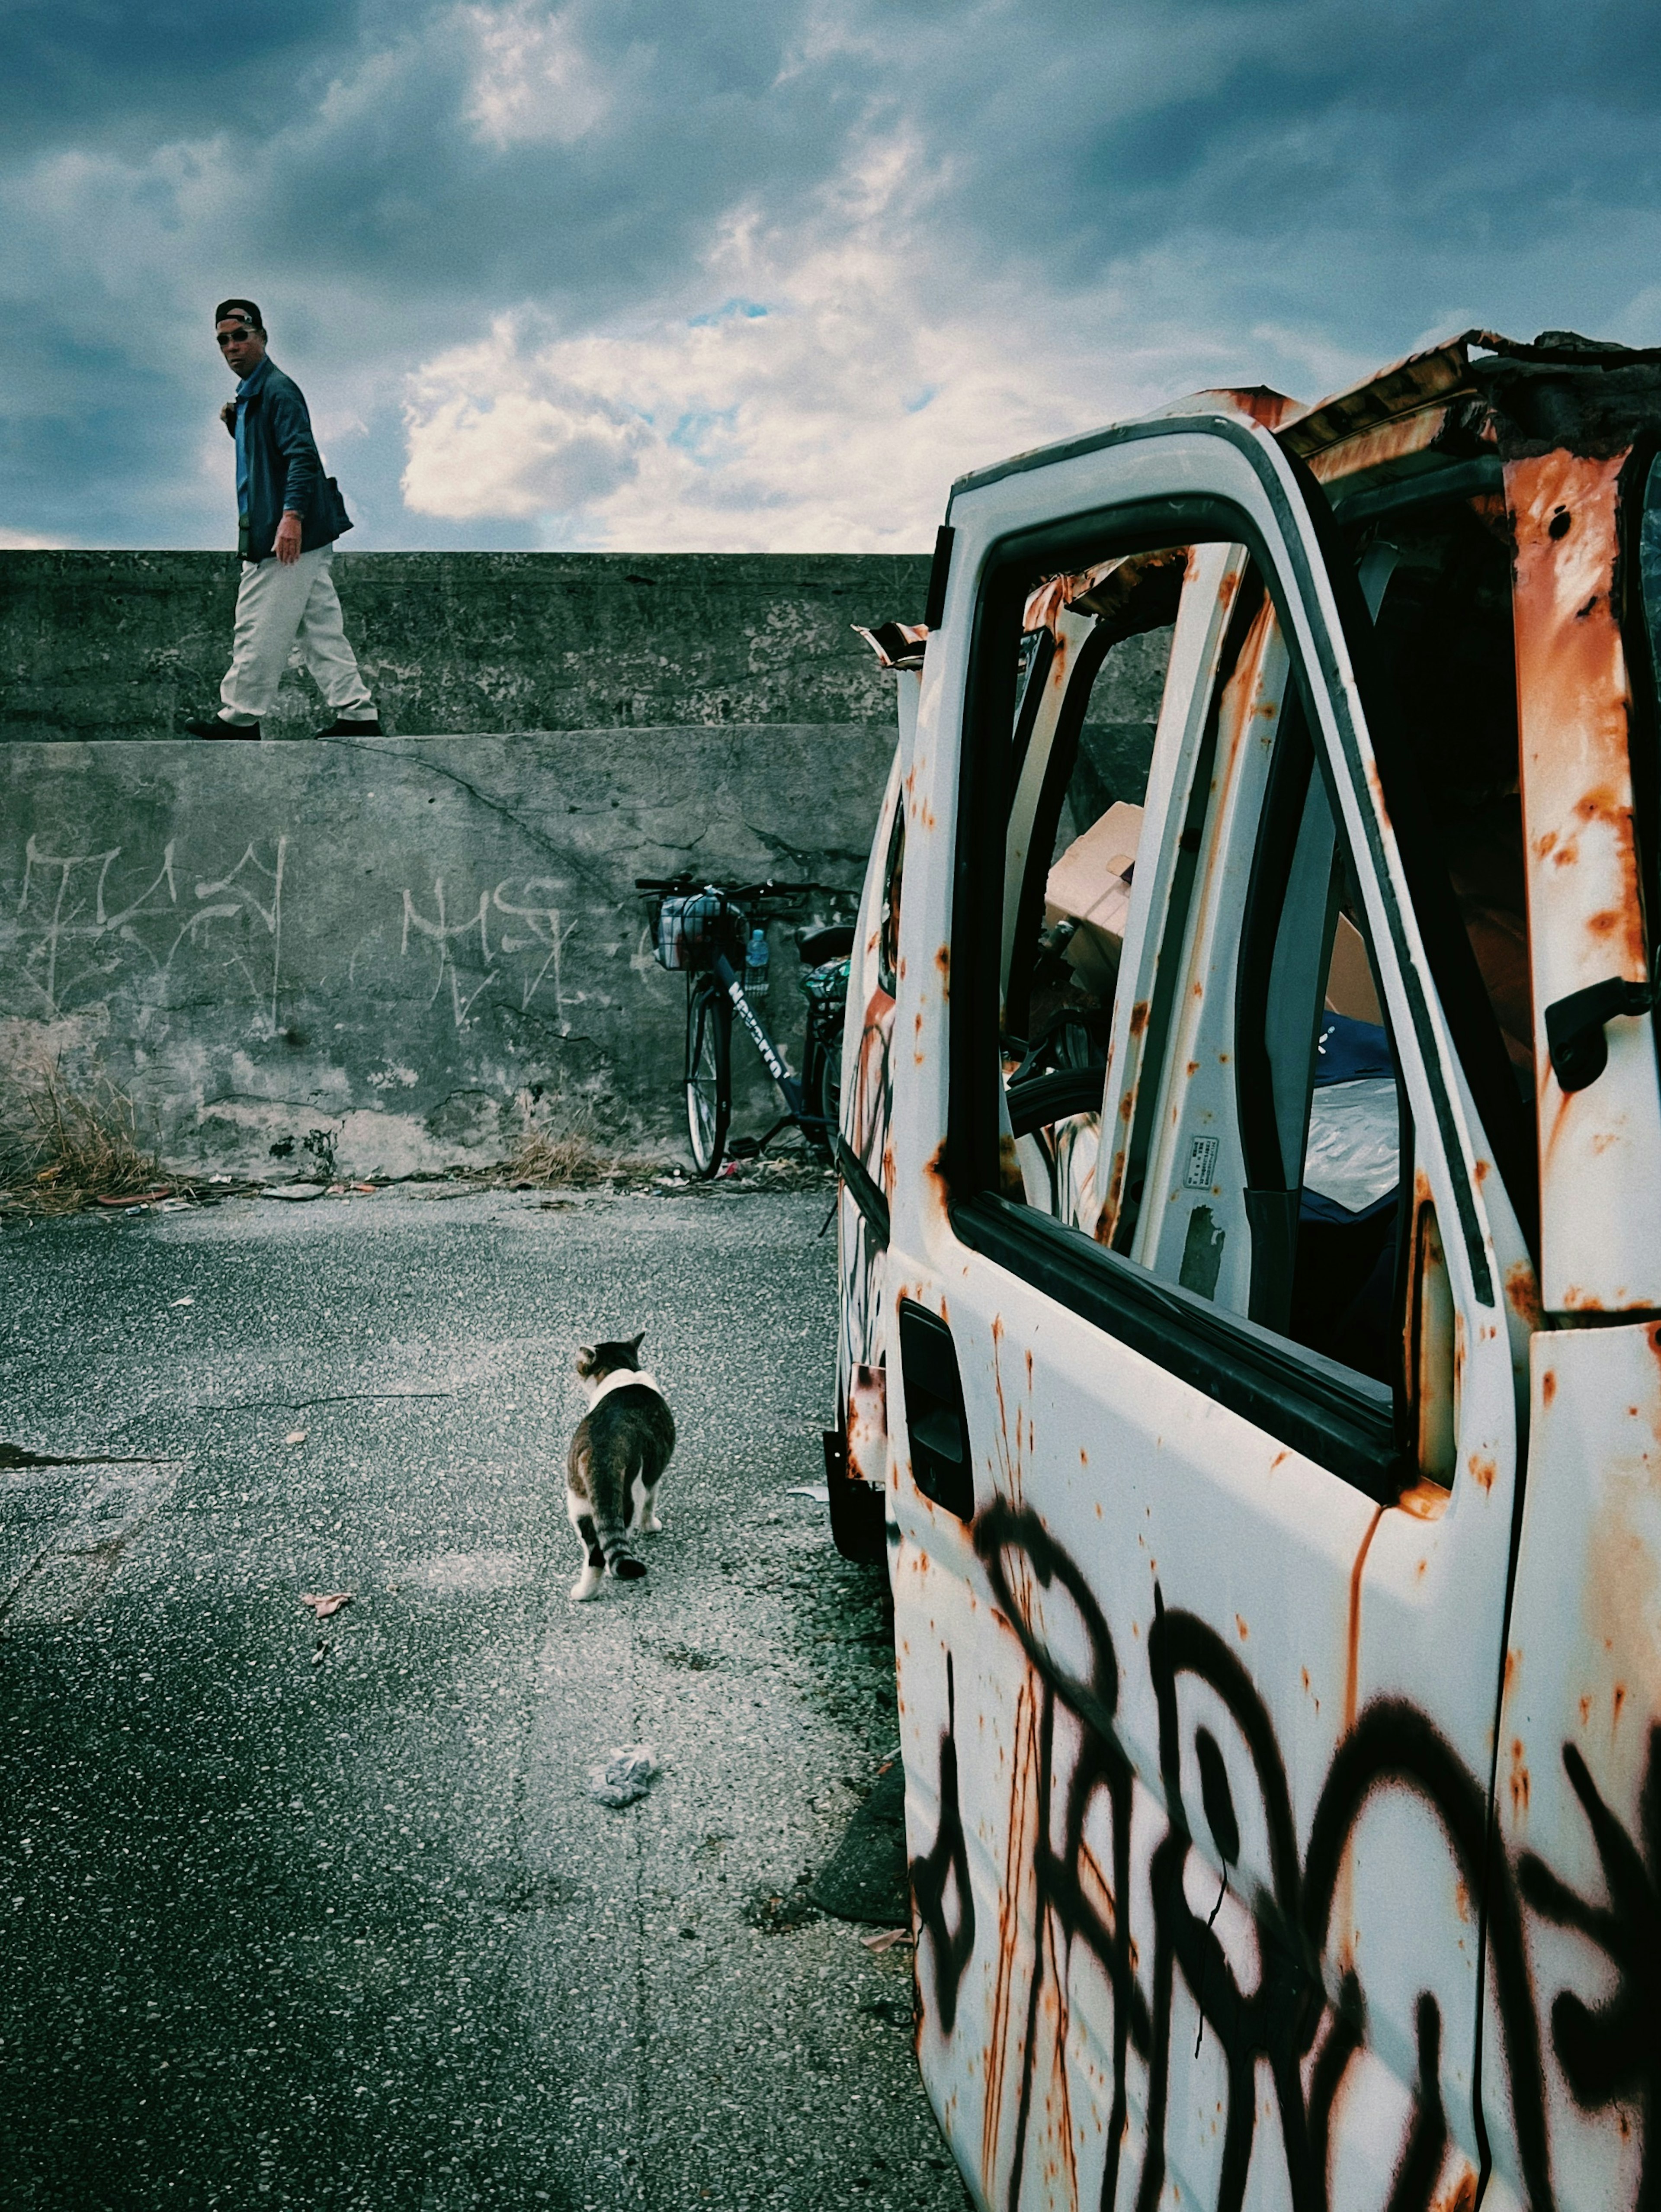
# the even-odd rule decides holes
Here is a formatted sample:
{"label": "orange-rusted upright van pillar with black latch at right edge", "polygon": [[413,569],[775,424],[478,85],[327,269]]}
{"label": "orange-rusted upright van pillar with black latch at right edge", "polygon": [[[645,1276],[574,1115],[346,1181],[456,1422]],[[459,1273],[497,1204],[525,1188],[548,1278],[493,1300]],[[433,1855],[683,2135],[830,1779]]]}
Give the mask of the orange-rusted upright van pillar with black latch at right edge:
{"label": "orange-rusted upright van pillar with black latch at right edge", "polygon": [[1564,1095],[1546,1009],[1648,978],[1632,825],[1628,668],[1615,613],[1623,453],[1506,460],[1528,956],[1539,1102],[1542,1298],[1548,1312],[1661,1307],[1661,1093],[1654,1024],[1608,1024],[1608,1068]]}

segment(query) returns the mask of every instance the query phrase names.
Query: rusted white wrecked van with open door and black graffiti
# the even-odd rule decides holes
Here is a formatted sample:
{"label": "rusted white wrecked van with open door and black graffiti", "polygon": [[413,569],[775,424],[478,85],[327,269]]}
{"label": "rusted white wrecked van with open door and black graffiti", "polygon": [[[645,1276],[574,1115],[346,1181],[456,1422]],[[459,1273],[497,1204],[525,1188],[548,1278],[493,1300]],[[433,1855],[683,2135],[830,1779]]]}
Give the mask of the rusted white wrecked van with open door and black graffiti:
{"label": "rusted white wrecked van with open door and black graffiti", "polygon": [[880,633],[827,1458],[986,2208],[1661,2205],[1659,442],[1208,392]]}

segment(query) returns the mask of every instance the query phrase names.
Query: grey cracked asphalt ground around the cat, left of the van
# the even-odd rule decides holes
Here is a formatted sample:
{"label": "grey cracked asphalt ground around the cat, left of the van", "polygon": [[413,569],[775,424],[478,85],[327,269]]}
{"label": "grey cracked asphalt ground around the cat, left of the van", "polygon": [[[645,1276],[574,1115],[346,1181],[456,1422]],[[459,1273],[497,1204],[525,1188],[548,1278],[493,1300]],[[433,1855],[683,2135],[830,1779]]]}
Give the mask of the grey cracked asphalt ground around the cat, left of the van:
{"label": "grey cracked asphalt ground around the cat, left of the van", "polygon": [[[898,1745],[794,1495],[825,1203],[4,1232],[0,1438],[86,1464],[0,1469],[0,2205],[960,2212],[911,1953],[805,1900]],[[573,1349],[639,1327],[666,1533],[573,1608]]]}

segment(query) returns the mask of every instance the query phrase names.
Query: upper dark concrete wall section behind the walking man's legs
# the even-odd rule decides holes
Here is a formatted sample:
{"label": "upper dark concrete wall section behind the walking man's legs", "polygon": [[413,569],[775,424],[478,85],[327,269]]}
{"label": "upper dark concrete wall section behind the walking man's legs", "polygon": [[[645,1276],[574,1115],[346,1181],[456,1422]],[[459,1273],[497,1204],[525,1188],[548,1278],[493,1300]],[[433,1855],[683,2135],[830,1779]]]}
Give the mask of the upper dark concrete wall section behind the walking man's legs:
{"label": "upper dark concrete wall section behind the walking man's legs", "polygon": [[[161,739],[215,712],[237,575],[228,553],[0,551],[0,737]],[[334,577],[389,732],[506,734],[880,721],[852,624],[920,622],[929,560],[341,551]],[[330,719],[290,675],[265,734]]]}

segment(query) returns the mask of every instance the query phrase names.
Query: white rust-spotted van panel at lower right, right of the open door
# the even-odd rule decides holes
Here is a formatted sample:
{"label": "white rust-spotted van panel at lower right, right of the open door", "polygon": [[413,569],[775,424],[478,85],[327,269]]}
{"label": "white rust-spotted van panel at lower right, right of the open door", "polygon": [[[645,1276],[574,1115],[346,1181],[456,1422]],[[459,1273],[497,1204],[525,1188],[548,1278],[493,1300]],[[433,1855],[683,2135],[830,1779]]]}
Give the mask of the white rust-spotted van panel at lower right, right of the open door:
{"label": "white rust-spotted van panel at lower right, right of the open door", "polygon": [[[1557,2201],[1661,2174],[1661,1332],[1535,1336],[1528,1495],[1495,1809],[1526,1944],[1535,2079],[1486,2079],[1495,2170],[1548,2143]],[[1522,2000],[1517,2000],[1522,2002]],[[1504,2037],[1495,1989],[1491,2037]]]}

